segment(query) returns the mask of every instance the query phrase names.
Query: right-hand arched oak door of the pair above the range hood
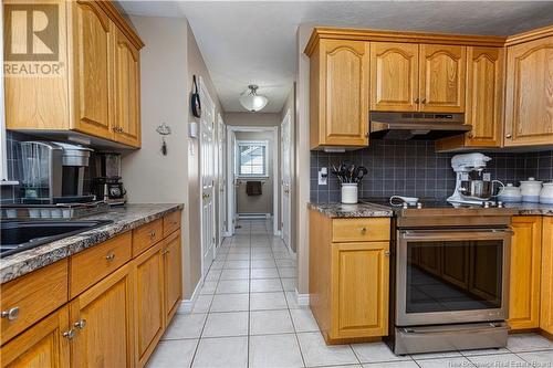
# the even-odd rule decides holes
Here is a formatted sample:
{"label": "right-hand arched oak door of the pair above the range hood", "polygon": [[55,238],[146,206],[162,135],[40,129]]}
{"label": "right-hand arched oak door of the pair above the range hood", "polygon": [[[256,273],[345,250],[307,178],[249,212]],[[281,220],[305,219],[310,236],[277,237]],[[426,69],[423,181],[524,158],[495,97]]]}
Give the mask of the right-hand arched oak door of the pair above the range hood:
{"label": "right-hand arched oak door of the pair above the range hood", "polygon": [[420,45],[420,111],[432,113],[465,112],[465,46]]}

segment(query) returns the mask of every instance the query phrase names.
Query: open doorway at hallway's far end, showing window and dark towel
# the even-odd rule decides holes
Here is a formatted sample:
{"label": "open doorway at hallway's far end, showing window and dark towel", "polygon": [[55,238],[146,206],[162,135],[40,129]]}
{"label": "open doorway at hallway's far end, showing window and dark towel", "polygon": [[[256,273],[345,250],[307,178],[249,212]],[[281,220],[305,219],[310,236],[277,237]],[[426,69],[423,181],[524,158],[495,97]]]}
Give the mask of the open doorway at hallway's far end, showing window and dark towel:
{"label": "open doorway at hallway's far end, showing window and dark towel", "polygon": [[238,220],[264,220],[280,235],[279,128],[228,126],[229,234]]}

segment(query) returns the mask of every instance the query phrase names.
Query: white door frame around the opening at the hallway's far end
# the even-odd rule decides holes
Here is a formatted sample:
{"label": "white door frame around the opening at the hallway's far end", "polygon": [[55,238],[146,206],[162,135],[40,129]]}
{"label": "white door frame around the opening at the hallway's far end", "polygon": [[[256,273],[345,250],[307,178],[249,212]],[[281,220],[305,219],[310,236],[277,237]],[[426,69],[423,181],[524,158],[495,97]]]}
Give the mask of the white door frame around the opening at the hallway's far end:
{"label": "white door frame around the opening at the hallway's far end", "polygon": [[[234,190],[234,165],[231,165],[234,157],[234,147],[232,145],[232,137],[234,137],[237,132],[270,132],[273,138],[273,149],[272,149],[272,162],[273,162],[273,235],[280,236],[281,231],[279,230],[279,192],[280,192],[280,178],[279,178],[279,126],[238,126],[238,125],[227,125],[227,234],[232,236],[234,234],[234,220],[236,220],[236,194],[230,196]],[[236,140],[236,139],[234,139]],[[232,180],[231,180],[232,178]]]}

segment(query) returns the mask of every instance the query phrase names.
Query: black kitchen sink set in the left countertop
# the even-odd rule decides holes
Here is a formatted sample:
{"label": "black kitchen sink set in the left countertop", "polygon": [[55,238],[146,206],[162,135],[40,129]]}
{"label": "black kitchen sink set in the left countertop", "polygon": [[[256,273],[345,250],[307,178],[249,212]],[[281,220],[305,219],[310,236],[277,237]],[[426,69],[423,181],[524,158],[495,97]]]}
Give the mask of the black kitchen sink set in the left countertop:
{"label": "black kitchen sink set in the left countertop", "polygon": [[38,245],[75,235],[112,222],[111,220],[2,221],[0,227],[0,257],[27,251]]}

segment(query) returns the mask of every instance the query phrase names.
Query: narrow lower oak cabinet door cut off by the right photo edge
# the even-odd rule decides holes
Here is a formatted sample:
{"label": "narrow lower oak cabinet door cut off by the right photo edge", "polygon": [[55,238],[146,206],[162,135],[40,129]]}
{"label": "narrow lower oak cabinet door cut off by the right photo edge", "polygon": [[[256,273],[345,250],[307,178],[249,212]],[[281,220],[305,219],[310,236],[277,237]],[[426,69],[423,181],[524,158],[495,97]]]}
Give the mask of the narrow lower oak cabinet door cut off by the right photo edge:
{"label": "narrow lower oak cabinet door cut off by the right photo edge", "polygon": [[553,334],[553,217],[543,217],[540,328]]}

